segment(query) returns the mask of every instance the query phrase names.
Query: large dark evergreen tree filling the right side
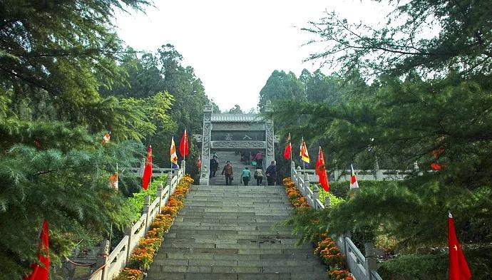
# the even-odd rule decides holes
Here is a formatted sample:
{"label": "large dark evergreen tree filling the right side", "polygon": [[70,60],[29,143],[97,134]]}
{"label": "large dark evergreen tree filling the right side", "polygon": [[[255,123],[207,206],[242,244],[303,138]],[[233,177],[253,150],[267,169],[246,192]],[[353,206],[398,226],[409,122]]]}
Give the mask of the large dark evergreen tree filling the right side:
{"label": "large dark evergreen tree filling the right side", "polygon": [[[419,172],[407,180],[361,184],[347,203],[319,217],[331,233],[369,229],[393,240],[399,256],[381,264],[384,277],[445,278],[440,249],[452,212],[473,278],[488,279],[491,3],[389,2],[396,9],[381,29],[351,25],[334,13],[306,28],[328,44],[329,51],[312,58],[338,63],[352,81],[346,83],[349,99],[334,107],[284,103],[276,111],[283,118],[306,118],[307,128],[332,151],[334,167],[347,168],[368,150],[393,160],[395,169],[418,163]],[[429,36],[431,28],[439,34]],[[357,73],[379,76],[367,86]],[[436,162],[439,171],[431,170]]]}

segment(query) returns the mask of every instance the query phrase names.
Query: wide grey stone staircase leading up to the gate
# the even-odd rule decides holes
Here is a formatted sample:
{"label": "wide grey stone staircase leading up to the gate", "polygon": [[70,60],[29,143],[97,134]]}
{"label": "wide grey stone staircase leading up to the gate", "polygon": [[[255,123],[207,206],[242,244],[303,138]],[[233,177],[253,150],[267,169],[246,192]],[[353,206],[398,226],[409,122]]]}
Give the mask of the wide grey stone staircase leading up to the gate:
{"label": "wide grey stone staircase leading up to the gate", "polygon": [[278,225],[290,214],[282,186],[193,186],[147,279],[326,280],[312,245]]}

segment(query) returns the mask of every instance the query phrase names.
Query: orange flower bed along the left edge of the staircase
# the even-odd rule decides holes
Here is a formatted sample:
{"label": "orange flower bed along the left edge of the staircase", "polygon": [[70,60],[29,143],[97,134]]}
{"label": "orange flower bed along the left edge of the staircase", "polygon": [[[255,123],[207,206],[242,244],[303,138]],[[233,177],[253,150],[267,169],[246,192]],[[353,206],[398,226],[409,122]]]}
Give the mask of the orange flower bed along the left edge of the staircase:
{"label": "orange flower bed along the left edge of the staircase", "polygon": [[173,224],[174,218],[183,208],[184,200],[193,179],[190,175],[185,175],[176,187],[173,195],[169,197],[168,203],[160,209],[150,228],[143,239],[138,242],[138,247],[128,260],[127,267],[115,278],[116,280],[142,280],[144,271],[150,268],[155,254],[158,252],[160,244],[163,242],[165,232]]}

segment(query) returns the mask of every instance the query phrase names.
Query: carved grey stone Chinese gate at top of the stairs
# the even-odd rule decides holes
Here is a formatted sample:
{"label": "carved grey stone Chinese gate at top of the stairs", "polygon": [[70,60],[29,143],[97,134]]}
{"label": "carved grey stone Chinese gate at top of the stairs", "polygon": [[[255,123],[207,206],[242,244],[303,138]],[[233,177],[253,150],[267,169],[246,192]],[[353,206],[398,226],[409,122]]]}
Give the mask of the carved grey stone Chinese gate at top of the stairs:
{"label": "carved grey stone Chinese gate at top of the stairs", "polygon": [[261,151],[265,155],[264,162],[275,160],[274,143],[278,140],[273,134],[273,120],[259,114],[214,114],[212,105],[205,105],[203,135],[195,137],[202,142],[200,185],[209,185],[211,151]]}

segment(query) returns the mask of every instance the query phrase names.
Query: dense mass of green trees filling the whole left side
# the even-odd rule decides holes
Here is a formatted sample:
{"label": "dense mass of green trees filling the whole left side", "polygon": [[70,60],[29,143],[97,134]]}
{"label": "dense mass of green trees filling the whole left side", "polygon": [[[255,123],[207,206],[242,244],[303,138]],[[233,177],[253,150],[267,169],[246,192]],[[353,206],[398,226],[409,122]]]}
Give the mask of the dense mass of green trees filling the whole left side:
{"label": "dense mass of green trees filling the whole left side", "polygon": [[[124,46],[117,11],[146,0],[1,1],[0,271],[20,279],[36,259],[41,222],[53,265],[130,220],[125,196],[140,182],[109,175],[139,166],[153,145],[168,167],[171,136],[198,133],[209,102],[200,78],[173,46],[155,53]],[[165,42],[163,42],[165,43]],[[102,145],[104,133],[111,140]],[[190,147],[190,161],[198,154]],[[193,172],[195,165],[190,167]]]}

